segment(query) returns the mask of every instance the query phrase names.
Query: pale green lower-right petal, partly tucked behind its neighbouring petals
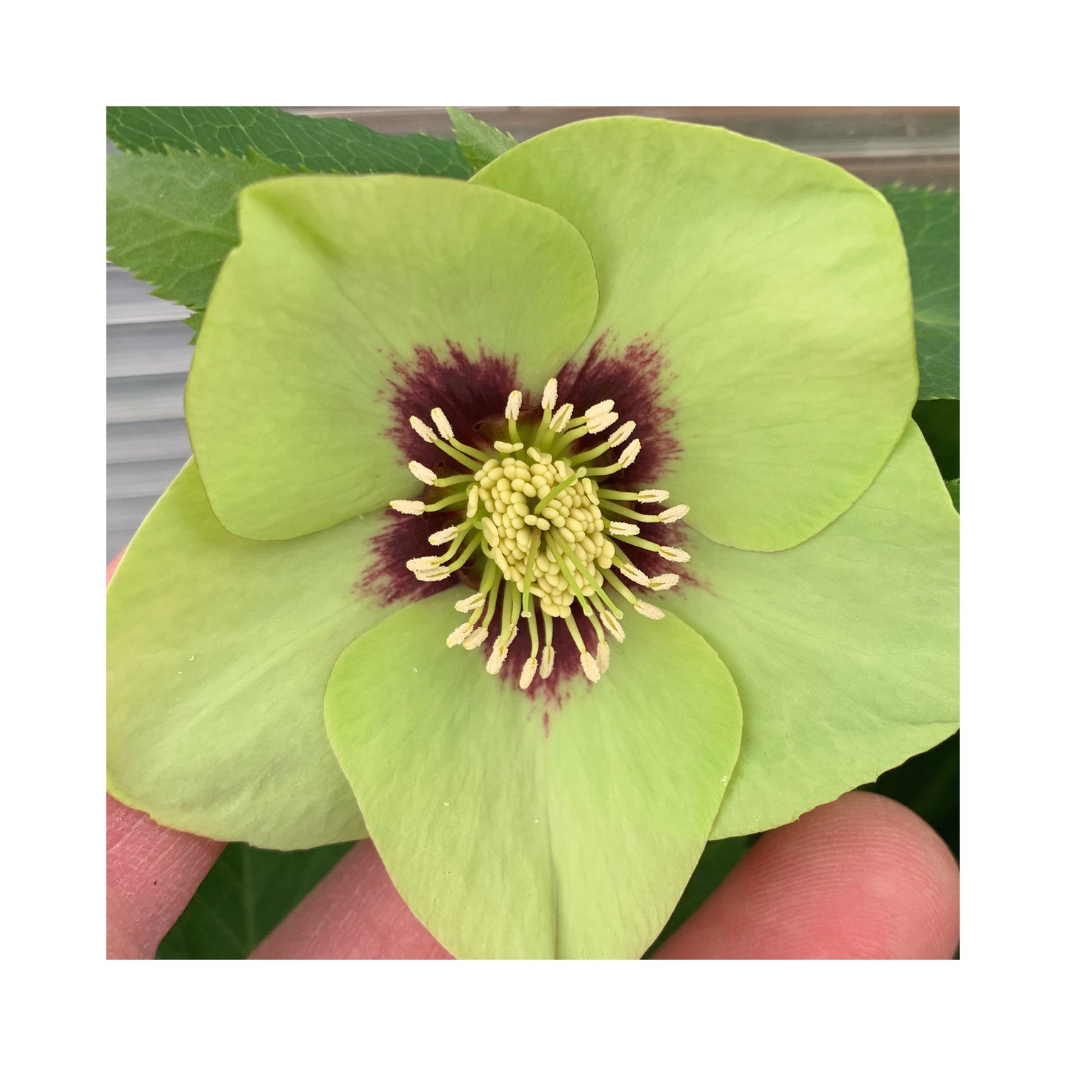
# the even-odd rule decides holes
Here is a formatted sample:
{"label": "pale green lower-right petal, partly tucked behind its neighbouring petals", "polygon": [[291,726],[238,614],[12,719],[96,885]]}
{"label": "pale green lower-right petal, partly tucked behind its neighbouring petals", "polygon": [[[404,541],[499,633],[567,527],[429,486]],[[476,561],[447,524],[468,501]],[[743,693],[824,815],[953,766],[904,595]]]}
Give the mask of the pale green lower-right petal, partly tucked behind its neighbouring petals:
{"label": "pale green lower-right petal, partly tucked behind its neighbouring petals", "polygon": [[699,538],[672,604],[744,705],[713,837],[758,833],[958,727],[958,516],[911,423],[855,505],[791,551]]}

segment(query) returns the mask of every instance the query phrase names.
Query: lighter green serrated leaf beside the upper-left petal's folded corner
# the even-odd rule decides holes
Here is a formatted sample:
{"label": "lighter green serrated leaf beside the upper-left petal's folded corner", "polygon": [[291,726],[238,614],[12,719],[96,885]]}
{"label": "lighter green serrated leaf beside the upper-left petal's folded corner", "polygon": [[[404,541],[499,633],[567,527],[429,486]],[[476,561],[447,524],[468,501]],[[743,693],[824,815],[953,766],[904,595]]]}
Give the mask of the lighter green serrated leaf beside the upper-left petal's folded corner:
{"label": "lighter green serrated leaf beside the upper-left petal's folded corner", "polygon": [[152,292],[207,307],[222,261],[237,244],[237,194],[291,174],[265,159],[165,150],[108,157],[108,257]]}

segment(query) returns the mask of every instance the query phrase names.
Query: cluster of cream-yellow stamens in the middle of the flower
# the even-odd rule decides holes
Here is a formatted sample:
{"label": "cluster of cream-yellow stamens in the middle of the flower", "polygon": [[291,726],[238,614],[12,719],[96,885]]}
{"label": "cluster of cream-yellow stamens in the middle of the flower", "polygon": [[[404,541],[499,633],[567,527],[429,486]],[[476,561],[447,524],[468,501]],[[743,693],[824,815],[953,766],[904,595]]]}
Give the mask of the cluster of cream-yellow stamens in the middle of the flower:
{"label": "cluster of cream-yellow stamens in the middle of the flower", "polygon": [[[688,514],[688,506],[657,514],[637,512],[627,504],[663,503],[669,494],[624,491],[600,484],[632,465],[640,453],[640,440],[629,439],[635,423],[625,422],[602,443],[586,447],[589,442],[582,438],[601,434],[618,421],[614,401],[597,403],[575,417],[572,404],[556,408],[556,400],[558,385],[552,378],[542,398],[539,425],[520,426],[522,394],[512,392],[504,411],[507,439],[494,441],[495,455],[457,440],[439,407],[431,411],[436,432],[413,416],[411,429],[466,472],[438,478],[413,461],[408,464],[411,473],[443,495],[429,503],[392,501],[405,515],[437,511],[465,515],[430,535],[433,547],[448,545],[446,550],[408,560],[407,568],[420,581],[446,581],[459,570],[477,574],[481,567],[478,591],[455,604],[469,617],[452,631],[447,644],[467,650],[481,647],[499,612],[500,633],[486,664],[489,674],[498,674],[524,621],[531,650],[519,677],[522,689],[530,687],[538,671],[542,678],[552,672],[555,619],[562,620],[574,641],[585,676],[598,681],[610,664],[608,634],[618,643],[626,639],[618,600],[647,618],[663,617],[658,607],[639,599],[630,584],[660,592],[673,588],[678,575],[649,578],[631,562],[627,548],[653,551],[675,563],[689,561],[688,552],[642,537],[639,524],[675,522]],[[595,465],[604,452],[623,445],[616,462]],[[577,625],[575,611],[588,619],[596,634],[594,650]]]}

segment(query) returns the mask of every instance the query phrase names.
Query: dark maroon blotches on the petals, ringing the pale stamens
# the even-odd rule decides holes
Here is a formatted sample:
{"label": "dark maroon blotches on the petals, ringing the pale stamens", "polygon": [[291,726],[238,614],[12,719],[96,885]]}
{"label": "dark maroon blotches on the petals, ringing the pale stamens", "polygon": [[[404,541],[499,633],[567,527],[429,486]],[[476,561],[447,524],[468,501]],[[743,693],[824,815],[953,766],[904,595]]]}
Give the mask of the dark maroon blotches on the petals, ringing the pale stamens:
{"label": "dark maroon blotches on the petals, ringing the pale stamens", "polygon": [[[463,443],[481,448],[491,453],[495,434],[503,432],[502,419],[507,395],[513,389],[524,388],[523,415],[539,418],[536,406],[539,390],[546,382],[520,383],[518,378],[519,359],[479,350],[478,355],[468,355],[452,341],[445,342],[446,351],[439,352],[430,345],[416,345],[414,358],[393,357],[390,386],[383,400],[388,403],[392,419],[387,430],[389,438],[397,445],[404,459],[414,458],[437,471],[438,475],[465,472],[449,456],[432,443],[422,440],[410,427],[409,418],[417,416],[430,423],[430,411],[440,407]],[[641,439],[641,452],[636,461],[627,469],[601,480],[604,487],[637,490],[641,488],[665,487],[660,481],[681,454],[680,445],[672,432],[674,410],[664,400],[668,382],[666,359],[662,345],[645,335],[628,344],[620,344],[607,330],[593,343],[584,357],[577,357],[560,371],[560,402],[572,403],[575,410],[583,411],[602,400],[614,400],[619,422],[632,419],[636,422],[634,437]],[[533,391],[529,391],[529,390]],[[585,447],[579,443],[577,446]],[[608,465],[616,461],[623,448],[612,449],[598,461]],[[411,486],[411,497],[416,497]],[[422,499],[439,498],[439,489],[426,489]],[[635,510],[657,513],[661,510],[653,504],[631,504]],[[371,595],[383,603],[402,600],[410,602],[445,592],[463,595],[468,587],[477,588],[478,571],[467,568],[461,577],[442,582],[418,581],[406,568],[408,559],[431,554],[435,550],[427,537],[436,530],[453,522],[462,521],[463,511],[439,512],[421,517],[413,517],[389,512],[384,530],[374,537],[375,561],[373,570],[353,586],[353,592]],[[681,546],[684,530],[681,526],[649,524],[645,535],[659,544]],[[442,548],[439,550],[443,550]],[[680,572],[682,582],[691,580],[683,565],[671,563],[651,551],[625,546],[634,564],[649,577],[668,571]],[[480,560],[479,560],[480,562]],[[646,596],[634,587],[637,597]],[[626,602],[618,605],[629,614],[631,608]],[[544,648],[543,616],[537,613],[537,629],[540,637],[540,655]],[[585,641],[586,647],[595,651],[597,636],[588,620],[575,612],[575,619]],[[484,669],[492,645],[500,634],[500,611],[489,624],[489,637],[474,651],[455,649],[455,655],[471,656],[471,665]],[[441,634],[443,640],[443,634]],[[555,619],[552,645],[555,661],[547,679],[534,676],[526,694],[535,700],[536,707],[544,707],[542,721],[547,738],[550,732],[551,715],[562,709],[571,683],[589,684],[581,668],[580,652],[570,639],[566,624]],[[500,672],[501,679],[518,688],[522,666],[530,656],[529,627],[526,619],[519,619],[518,635],[507,652]],[[538,657],[539,658],[539,657]]]}

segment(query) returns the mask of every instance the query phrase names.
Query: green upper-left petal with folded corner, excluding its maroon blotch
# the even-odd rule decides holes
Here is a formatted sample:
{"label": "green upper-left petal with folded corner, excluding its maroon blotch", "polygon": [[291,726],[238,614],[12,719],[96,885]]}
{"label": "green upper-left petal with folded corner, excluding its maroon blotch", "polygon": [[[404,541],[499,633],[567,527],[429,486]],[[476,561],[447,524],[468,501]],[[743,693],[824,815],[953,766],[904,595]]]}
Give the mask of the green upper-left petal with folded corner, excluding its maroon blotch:
{"label": "green upper-left petal with folded corner, excluding its maroon blotch", "polygon": [[539,385],[595,313],[574,227],[495,190],[282,178],[245,190],[239,221],[185,413],[211,506],[241,536],[297,536],[415,491],[387,431],[390,383],[416,346],[518,356]]}

